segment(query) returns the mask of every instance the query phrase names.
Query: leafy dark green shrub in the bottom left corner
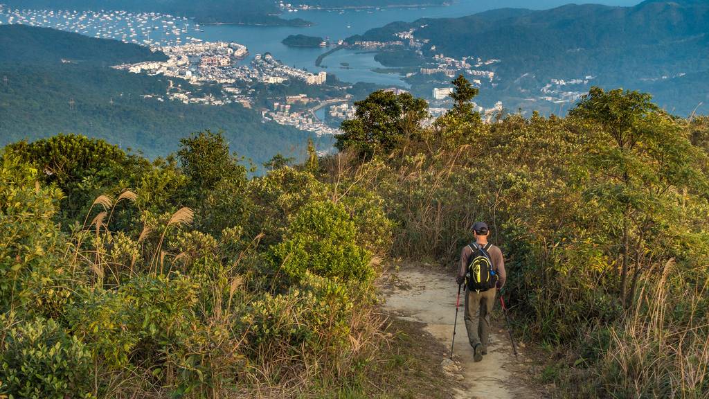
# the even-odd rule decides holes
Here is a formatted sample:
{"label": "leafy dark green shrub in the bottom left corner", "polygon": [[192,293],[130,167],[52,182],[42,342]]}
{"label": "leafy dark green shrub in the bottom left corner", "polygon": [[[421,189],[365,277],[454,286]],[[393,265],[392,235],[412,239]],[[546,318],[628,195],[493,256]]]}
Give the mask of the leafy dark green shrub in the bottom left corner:
{"label": "leafy dark green shrub in the bottom left corner", "polygon": [[11,398],[94,398],[89,349],[52,319],[9,329],[1,359],[0,393]]}

